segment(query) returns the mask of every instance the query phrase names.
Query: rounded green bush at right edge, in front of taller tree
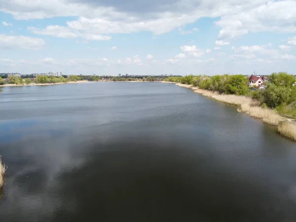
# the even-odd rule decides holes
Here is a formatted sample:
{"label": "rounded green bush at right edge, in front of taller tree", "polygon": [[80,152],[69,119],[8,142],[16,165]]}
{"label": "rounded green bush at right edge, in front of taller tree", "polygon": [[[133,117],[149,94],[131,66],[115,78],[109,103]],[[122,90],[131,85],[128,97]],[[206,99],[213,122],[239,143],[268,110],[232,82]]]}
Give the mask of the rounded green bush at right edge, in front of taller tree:
{"label": "rounded green bush at right edge, in front of taller tree", "polygon": [[281,104],[290,104],[296,99],[294,88],[285,87],[283,85],[277,86],[275,84],[267,84],[263,92],[264,102],[269,108],[275,108]]}

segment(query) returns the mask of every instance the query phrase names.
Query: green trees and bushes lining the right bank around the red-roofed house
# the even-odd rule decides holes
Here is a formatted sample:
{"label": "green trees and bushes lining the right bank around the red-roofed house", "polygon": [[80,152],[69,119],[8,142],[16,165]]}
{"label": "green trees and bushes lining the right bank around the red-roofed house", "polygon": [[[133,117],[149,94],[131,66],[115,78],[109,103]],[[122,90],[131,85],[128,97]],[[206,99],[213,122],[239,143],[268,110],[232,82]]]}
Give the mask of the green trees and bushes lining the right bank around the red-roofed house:
{"label": "green trees and bushes lining the right bank around the red-roofed house", "polygon": [[186,75],[168,77],[167,81],[190,84],[200,89],[217,91],[223,94],[249,96],[258,100],[262,107],[275,109],[281,114],[296,117],[295,76],[285,72],[272,73],[263,82],[264,90],[248,88],[248,78],[242,74],[235,75]]}

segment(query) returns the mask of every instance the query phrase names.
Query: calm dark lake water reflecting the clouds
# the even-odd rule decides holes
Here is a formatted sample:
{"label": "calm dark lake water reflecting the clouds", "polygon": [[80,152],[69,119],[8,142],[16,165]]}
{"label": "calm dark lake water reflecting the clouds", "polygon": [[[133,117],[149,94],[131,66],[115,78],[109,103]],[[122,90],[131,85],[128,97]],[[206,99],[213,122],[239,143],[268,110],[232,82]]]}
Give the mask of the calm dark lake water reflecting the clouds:
{"label": "calm dark lake water reflecting the clouds", "polygon": [[295,222],[296,143],[162,83],[4,87],[1,222]]}

